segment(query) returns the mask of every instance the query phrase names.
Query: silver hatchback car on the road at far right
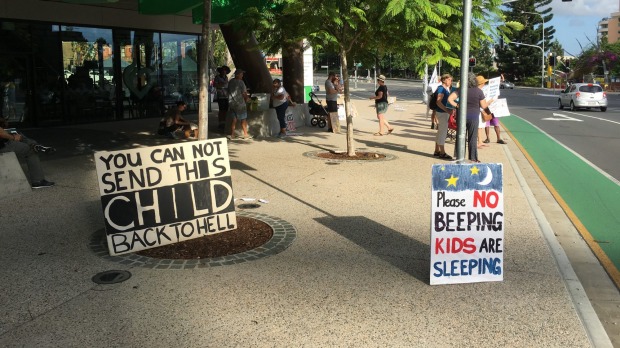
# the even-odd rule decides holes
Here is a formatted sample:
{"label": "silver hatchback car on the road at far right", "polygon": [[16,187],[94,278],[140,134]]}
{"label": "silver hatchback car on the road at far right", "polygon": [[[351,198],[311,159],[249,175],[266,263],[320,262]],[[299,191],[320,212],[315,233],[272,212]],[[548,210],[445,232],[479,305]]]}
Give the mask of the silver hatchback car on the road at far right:
{"label": "silver hatchback car on the road at far right", "polygon": [[607,111],[607,94],[603,87],[595,83],[575,83],[562,92],[558,99],[558,107],[569,106],[572,111],[578,108],[598,108]]}

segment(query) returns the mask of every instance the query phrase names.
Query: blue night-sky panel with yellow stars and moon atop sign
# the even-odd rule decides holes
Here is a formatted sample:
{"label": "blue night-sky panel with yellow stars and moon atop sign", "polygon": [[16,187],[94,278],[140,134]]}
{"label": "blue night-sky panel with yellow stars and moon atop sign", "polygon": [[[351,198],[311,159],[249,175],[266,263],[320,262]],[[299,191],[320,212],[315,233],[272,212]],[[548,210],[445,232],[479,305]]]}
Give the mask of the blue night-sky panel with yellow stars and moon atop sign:
{"label": "blue night-sky panel with yellow stars and moon atop sign", "polygon": [[502,192],[502,171],[501,163],[436,164],[432,169],[433,191]]}

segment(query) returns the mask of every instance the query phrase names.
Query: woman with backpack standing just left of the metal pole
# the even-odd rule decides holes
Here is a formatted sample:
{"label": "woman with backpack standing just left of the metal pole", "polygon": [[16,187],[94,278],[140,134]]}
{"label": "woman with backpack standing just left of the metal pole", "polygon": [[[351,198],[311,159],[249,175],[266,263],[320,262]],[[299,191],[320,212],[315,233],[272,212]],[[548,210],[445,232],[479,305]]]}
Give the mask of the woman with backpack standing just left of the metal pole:
{"label": "woman with backpack standing just left of the metal pole", "polygon": [[429,100],[429,106],[437,112],[437,136],[433,156],[447,160],[452,159],[444,147],[448,134],[448,118],[450,117],[450,109],[447,106],[450,93],[452,93],[452,75],[443,74],[441,75],[441,85],[437,87]]}

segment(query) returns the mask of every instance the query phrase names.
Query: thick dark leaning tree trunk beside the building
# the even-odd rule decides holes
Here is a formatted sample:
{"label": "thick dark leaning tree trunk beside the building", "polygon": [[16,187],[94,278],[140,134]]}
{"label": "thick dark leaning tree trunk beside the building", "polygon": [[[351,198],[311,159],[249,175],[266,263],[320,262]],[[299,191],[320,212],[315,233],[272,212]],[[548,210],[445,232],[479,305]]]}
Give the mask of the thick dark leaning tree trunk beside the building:
{"label": "thick dark leaning tree trunk beside the building", "polygon": [[237,69],[246,71],[244,81],[252,93],[271,93],[271,74],[252,32],[220,24],[220,30]]}

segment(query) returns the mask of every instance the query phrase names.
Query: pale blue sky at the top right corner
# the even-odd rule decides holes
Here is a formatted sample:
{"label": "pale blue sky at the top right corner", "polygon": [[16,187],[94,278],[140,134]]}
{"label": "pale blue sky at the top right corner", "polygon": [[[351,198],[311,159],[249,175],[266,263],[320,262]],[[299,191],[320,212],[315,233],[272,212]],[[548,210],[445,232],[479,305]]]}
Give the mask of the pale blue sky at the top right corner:
{"label": "pale blue sky at the top right corner", "polygon": [[579,43],[586,48],[596,42],[598,22],[619,12],[620,0],[553,0],[550,7],[553,19],[545,22],[545,28],[554,27],[554,39],[564,47],[565,54],[578,56]]}

